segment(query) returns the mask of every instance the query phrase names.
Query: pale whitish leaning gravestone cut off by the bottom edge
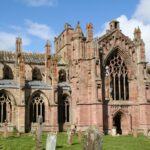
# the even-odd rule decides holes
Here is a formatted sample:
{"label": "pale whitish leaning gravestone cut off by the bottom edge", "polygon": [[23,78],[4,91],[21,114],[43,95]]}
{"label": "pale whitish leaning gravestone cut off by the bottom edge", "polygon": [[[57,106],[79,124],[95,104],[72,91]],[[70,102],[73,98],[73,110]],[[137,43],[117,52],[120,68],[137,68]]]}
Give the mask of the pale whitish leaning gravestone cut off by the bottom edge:
{"label": "pale whitish leaning gravestone cut off by the bottom edge", "polygon": [[49,133],[46,140],[46,150],[55,150],[57,141],[57,132]]}

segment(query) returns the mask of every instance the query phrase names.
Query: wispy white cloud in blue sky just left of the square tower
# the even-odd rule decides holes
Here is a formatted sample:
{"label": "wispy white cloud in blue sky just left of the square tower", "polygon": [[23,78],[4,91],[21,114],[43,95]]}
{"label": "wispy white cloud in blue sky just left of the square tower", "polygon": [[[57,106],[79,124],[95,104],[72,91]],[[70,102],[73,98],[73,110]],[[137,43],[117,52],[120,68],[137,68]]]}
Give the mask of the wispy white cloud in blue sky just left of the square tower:
{"label": "wispy white cloud in blue sky just left of the square tower", "polygon": [[45,24],[39,24],[37,22],[32,22],[30,20],[26,21],[27,32],[30,35],[36,36],[43,40],[53,41],[55,37],[54,31]]}

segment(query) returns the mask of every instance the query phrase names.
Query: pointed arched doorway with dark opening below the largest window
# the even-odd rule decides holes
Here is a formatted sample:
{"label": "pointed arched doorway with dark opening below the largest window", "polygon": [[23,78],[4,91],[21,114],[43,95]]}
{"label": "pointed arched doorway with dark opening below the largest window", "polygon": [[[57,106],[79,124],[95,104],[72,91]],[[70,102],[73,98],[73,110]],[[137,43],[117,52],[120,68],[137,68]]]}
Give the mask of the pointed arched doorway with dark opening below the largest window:
{"label": "pointed arched doorway with dark opening below the largest window", "polygon": [[115,113],[113,117],[113,127],[116,128],[117,134],[128,134],[127,117],[121,111]]}

